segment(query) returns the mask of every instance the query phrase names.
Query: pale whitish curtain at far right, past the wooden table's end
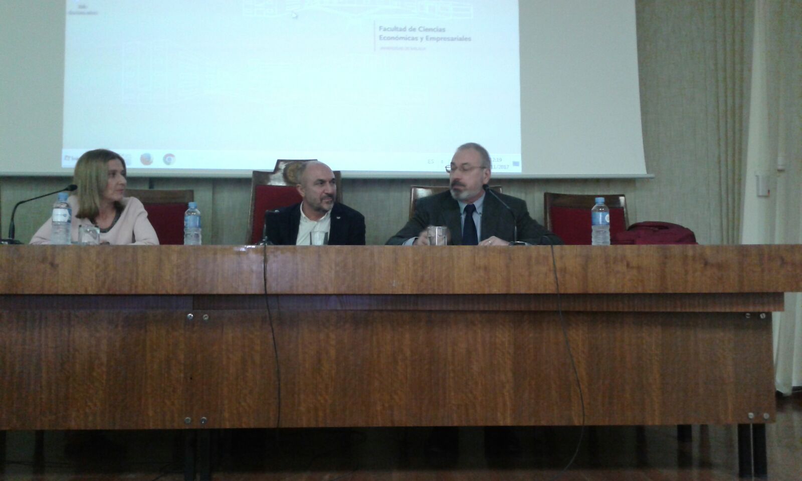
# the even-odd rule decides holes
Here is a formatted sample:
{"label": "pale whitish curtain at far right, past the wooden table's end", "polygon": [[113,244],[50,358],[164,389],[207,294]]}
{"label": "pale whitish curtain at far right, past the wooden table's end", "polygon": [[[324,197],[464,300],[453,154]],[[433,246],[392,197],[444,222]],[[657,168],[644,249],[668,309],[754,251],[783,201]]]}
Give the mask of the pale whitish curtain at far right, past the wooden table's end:
{"label": "pale whitish curtain at far right, past the wooden table's end", "polygon": [[[755,4],[754,68],[747,178],[770,180],[768,196],[747,184],[743,242],[802,243],[802,2]],[[802,385],[802,295],[785,295],[774,313],[776,389]]]}

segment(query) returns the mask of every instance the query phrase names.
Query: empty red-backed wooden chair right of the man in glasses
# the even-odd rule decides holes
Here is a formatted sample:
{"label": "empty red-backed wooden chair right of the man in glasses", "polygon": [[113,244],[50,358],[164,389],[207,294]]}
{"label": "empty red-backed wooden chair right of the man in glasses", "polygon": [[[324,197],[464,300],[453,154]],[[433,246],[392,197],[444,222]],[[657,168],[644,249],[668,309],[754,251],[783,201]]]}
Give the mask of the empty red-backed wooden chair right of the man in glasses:
{"label": "empty red-backed wooden chair right of the man in glasses", "polygon": [[625,231],[630,225],[623,194],[558,194],[545,192],[545,227],[560,236],[568,245],[590,245],[590,209],[596,197],[604,197],[610,208],[610,237]]}

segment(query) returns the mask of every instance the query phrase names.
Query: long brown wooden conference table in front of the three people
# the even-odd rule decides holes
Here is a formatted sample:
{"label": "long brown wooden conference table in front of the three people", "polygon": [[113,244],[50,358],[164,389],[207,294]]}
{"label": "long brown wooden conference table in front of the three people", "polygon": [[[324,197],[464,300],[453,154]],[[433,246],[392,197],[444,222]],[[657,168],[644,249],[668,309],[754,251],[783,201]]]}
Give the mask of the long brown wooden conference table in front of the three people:
{"label": "long brown wooden conference table in front of the three people", "polygon": [[[586,424],[764,436],[802,246],[554,253]],[[546,246],[2,246],[0,430],[579,425],[555,292]]]}

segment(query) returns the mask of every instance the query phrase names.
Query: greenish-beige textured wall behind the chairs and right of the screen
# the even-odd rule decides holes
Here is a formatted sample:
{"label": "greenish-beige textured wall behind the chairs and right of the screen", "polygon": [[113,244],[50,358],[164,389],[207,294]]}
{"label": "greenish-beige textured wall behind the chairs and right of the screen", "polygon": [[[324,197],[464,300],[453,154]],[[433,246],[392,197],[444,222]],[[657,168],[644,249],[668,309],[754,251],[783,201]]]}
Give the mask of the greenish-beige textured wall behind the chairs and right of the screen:
{"label": "greenish-beige textured wall behind the chairs and right of the screen", "polygon": [[[706,0],[637,2],[646,168],[654,174],[654,180],[499,180],[494,184],[503,185],[505,193],[524,198],[538,221],[543,219],[546,191],[624,193],[630,206],[630,222],[676,222],[693,229],[701,243],[721,243],[726,227],[717,164],[722,155],[717,130],[721,120],[715,109],[719,99],[715,51],[710,47],[710,25],[716,8],[715,2]],[[576,139],[582,141],[581,132],[577,132]],[[482,139],[465,141],[481,143]],[[66,178],[50,177],[0,179],[3,236],[16,200],[55,190],[68,182]],[[383,244],[403,225],[409,185],[416,183],[432,184],[431,180],[343,180],[343,201],[366,216],[368,244]],[[129,180],[132,188],[148,188],[148,184],[154,188],[195,190],[204,216],[206,244],[241,244],[245,239],[249,180]],[[18,239],[30,240],[47,218],[52,201],[36,200],[20,208]]]}

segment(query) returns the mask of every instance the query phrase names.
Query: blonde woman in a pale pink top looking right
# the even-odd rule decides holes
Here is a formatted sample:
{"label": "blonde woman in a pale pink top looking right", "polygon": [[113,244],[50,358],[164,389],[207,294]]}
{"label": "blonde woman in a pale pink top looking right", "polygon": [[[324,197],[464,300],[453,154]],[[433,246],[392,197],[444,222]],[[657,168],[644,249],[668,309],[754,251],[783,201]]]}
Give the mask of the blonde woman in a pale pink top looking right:
{"label": "blonde woman in a pale pink top looking right", "polygon": [[[140,200],[125,197],[125,160],[115,152],[99,148],[85,152],[75,164],[73,183],[78,186],[67,199],[72,209],[71,239],[78,241],[80,225],[100,229],[100,243],[111,245],[158,245],[156,231]],[[50,244],[52,220],[34,234],[31,244]]]}

